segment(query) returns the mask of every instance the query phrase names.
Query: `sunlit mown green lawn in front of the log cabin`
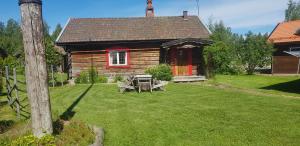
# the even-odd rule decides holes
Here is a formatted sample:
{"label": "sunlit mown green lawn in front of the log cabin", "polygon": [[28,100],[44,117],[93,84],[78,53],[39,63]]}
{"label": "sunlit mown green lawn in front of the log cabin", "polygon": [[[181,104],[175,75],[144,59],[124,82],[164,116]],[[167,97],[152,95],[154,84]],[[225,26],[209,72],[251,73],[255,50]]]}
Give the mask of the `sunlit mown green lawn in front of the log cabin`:
{"label": "sunlit mown green lawn in front of the log cabin", "polygon": [[166,92],[152,94],[120,94],[116,85],[76,85],[51,88],[51,102],[56,118],[103,127],[105,145],[298,145],[300,98],[281,95],[297,97],[297,92],[274,89],[270,92],[281,94],[258,96],[232,90],[269,92],[264,87],[295,80],[217,76],[208,83],[170,84]]}

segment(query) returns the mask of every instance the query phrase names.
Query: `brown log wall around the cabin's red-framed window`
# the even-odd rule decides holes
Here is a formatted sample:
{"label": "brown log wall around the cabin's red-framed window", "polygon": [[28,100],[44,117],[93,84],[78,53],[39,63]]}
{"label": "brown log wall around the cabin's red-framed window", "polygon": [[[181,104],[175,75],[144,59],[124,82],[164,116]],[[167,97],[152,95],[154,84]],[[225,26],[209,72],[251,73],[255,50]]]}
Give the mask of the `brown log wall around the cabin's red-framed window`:
{"label": "brown log wall around the cabin's red-framed window", "polygon": [[117,68],[107,66],[106,50],[72,51],[72,76],[76,77],[82,71],[96,68],[100,74],[143,74],[149,67],[159,64],[160,49],[130,49],[129,67]]}

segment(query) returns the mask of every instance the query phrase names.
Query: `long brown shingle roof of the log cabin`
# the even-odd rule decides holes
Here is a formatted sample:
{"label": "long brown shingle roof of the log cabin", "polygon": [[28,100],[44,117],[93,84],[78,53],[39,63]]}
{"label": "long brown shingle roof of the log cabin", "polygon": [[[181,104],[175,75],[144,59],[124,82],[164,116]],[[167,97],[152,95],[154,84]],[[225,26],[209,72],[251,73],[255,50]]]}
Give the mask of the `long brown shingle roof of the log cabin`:
{"label": "long brown shingle roof of the log cabin", "polygon": [[57,43],[207,39],[209,32],[197,16],[70,19]]}

